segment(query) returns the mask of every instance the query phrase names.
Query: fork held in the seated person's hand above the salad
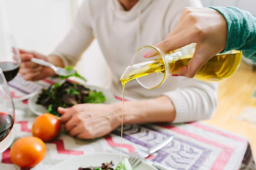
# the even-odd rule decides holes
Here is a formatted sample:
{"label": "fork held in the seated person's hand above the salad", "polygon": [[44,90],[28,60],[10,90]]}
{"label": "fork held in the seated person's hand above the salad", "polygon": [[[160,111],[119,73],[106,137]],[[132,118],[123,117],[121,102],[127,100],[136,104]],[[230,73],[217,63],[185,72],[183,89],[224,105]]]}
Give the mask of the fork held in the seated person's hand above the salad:
{"label": "fork held in the seated person's hand above the salad", "polygon": [[61,75],[61,76],[69,76],[69,75],[73,75],[76,73],[76,70],[74,70],[74,69],[67,70],[65,68],[56,67],[52,63],[49,63],[49,62],[41,60],[41,59],[32,58],[31,61],[36,64],[42,65],[42,66],[50,67],[50,68],[52,68],[52,70],[55,71],[56,74]]}

